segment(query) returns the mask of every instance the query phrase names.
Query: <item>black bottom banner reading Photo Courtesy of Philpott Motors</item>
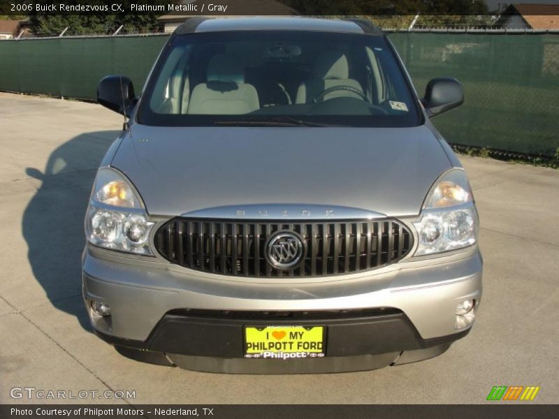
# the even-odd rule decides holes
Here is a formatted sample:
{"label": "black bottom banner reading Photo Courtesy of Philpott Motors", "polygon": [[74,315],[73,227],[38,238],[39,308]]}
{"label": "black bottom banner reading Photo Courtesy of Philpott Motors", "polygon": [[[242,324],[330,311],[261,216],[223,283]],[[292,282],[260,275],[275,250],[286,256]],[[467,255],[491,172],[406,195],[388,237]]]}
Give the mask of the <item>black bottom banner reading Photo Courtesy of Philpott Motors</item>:
{"label": "black bottom banner reading Photo Courtesy of Philpott Motors", "polygon": [[[497,402],[500,403],[500,402]],[[2,419],[136,419],[136,418],[266,418],[266,419],[353,419],[353,418],[476,418],[525,419],[557,418],[557,405],[475,404],[475,405],[340,405],[340,404],[3,404]]]}

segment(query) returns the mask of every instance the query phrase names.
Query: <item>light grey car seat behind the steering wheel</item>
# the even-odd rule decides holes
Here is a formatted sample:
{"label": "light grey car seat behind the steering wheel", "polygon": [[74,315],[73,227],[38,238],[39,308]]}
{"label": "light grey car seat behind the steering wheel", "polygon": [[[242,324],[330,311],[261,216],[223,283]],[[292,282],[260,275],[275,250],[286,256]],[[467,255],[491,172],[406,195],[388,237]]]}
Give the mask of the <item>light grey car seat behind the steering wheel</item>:
{"label": "light grey car seat behind the steering wheel", "polygon": [[[346,55],[339,50],[319,53],[312,66],[312,78],[299,84],[296,103],[312,103],[323,91],[336,86],[354,87],[363,93],[361,84],[349,78],[349,63]],[[328,93],[322,100],[336,97],[359,96],[349,90],[336,90]]]}

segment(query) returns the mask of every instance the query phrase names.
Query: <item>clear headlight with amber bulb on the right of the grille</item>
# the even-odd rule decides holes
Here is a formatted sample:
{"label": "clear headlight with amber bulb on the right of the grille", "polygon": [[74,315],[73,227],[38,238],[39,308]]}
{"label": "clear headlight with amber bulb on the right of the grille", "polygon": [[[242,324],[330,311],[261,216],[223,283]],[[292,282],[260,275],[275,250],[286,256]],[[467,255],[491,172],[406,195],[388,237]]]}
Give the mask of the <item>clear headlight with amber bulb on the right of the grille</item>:
{"label": "clear headlight with amber bulb on the right of the grille", "polygon": [[428,193],[421,221],[414,225],[419,236],[415,256],[461,249],[477,242],[477,211],[463,170],[449,170],[440,177]]}

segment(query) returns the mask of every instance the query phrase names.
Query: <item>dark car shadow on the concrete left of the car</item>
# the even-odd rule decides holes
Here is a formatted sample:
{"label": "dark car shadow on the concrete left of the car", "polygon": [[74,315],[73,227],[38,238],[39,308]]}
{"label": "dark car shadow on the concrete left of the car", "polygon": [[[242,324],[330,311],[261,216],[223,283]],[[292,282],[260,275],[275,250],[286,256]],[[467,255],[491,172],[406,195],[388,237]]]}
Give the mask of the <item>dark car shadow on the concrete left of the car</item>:
{"label": "dark car shadow on the concrete left of the car", "polygon": [[92,330],[82,302],[84,217],[96,169],[118,131],[83,133],[55,149],[45,170],[27,168],[41,186],[23,214],[33,274],[54,307]]}

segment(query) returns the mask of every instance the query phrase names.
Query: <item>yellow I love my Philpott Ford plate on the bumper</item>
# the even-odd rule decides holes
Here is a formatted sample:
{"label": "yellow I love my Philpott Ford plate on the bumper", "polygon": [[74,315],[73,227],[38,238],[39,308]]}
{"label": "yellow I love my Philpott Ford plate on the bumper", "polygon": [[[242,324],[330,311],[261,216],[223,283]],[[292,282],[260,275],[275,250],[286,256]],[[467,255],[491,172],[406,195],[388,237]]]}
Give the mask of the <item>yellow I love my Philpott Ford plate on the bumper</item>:
{"label": "yellow I love my Philpott Ford plate on the bumper", "polygon": [[246,326],[245,358],[324,357],[324,326]]}

